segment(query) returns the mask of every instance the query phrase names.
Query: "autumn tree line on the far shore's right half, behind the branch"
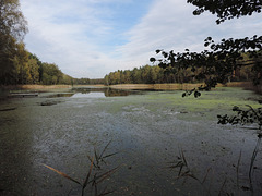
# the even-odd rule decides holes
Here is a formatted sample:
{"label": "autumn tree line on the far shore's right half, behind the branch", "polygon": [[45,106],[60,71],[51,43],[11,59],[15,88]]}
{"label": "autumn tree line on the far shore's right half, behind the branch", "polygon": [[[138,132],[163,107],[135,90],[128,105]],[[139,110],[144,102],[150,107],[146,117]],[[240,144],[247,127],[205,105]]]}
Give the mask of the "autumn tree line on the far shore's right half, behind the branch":
{"label": "autumn tree line on the far shore's right half, behind the branch", "polygon": [[[254,77],[252,72],[252,63],[254,60],[250,60],[245,56],[245,60],[239,63],[246,63],[245,66],[236,68],[230,75],[228,75],[226,82],[239,82],[251,81]],[[249,62],[247,64],[247,62]],[[201,73],[204,72],[204,68],[194,68],[188,65],[184,68],[171,66],[171,64],[158,64],[158,65],[145,65],[134,68],[133,70],[118,70],[110,72],[104,77],[105,85],[117,84],[164,84],[164,83],[202,83],[204,78]],[[215,73],[213,73],[215,75]],[[206,75],[205,75],[206,76]],[[212,76],[212,74],[210,74]]]}

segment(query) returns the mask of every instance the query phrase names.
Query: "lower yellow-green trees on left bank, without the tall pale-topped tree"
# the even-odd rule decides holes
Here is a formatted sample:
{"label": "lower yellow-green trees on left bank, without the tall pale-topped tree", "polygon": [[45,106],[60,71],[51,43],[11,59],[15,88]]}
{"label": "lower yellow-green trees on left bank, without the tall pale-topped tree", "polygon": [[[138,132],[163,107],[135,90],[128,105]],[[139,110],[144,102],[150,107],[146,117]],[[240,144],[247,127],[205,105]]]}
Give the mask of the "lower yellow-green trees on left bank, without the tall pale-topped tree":
{"label": "lower yellow-green trees on left bank, without the tall pale-topped tree", "polygon": [[[23,44],[17,44],[16,53],[7,62],[1,62],[1,85],[95,85],[104,79],[74,78],[64,74],[56,63],[41,62],[36,54],[26,51]],[[5,64],[2,64],[5,63]]]}

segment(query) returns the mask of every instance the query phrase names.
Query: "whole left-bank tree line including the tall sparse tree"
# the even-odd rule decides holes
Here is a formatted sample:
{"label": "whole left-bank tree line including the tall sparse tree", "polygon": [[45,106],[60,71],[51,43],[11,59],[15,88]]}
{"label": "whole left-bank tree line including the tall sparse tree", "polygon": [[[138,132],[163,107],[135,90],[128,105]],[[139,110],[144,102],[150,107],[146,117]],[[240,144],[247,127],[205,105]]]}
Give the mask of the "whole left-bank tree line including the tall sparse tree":
{"label": "whole left-bank tree line including the tall sparse tree", "polygon": [[23,42],[28,32],[19,0],[0,1],[0,85],[103,84],[103,79],[73,78],[55,63],[41,62]]}

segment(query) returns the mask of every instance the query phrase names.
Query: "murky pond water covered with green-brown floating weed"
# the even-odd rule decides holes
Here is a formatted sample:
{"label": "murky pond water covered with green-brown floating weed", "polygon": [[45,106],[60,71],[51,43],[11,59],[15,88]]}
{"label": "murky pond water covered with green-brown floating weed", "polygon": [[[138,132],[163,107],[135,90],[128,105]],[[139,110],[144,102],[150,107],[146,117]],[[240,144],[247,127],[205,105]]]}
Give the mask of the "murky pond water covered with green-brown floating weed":
{"label": "murky pond water covered with green-brown floating weed", "polygon": [[[83,182],[88,156],[109,142],[105,154],[117,154],[97,172],[119,168],[98,192],[107,186],[111,195],[251,195],[255,131],[218,125],[216,115],[231,113],[234,105],[258,107],[261,96],[240,88],[218,88],[199,99],[182,98],[181,91],[122,95],[74,90],[1,100],[0,195],[81,195],[78,184],[43,163]],[[169,167],[179,161],[179,150],[202,184],[191,176],[177,180],[179,170]],[[254,195],[262,192],[261,152],[260,147]]]}

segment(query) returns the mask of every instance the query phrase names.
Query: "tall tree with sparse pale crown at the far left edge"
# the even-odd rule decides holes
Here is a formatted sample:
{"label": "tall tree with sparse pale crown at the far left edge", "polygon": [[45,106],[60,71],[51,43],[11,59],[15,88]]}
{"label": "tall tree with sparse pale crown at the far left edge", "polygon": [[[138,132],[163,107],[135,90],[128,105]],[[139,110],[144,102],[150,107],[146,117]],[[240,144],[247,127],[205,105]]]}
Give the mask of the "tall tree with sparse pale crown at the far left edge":
{"label": "tall tree with sparse pale crown at the far left edge", "polygon": [[[0,1],[0,83],[14,84],[17,50],[27,32],[26,21],[20,11],[19,0]],[[22,51],[23,52],[23,51]]]}

